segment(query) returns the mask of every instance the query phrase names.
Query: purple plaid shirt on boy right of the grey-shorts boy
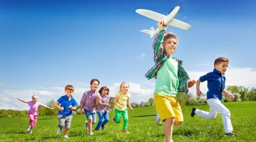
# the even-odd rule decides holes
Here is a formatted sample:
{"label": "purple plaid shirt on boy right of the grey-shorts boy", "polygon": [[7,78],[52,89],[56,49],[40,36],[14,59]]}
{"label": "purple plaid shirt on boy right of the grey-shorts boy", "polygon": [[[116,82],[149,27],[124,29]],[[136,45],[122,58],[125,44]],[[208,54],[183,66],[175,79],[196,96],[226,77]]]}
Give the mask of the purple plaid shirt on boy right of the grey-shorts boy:
{"label": "purple plaid shirt on boy right of the grey-shorts boy", "polygon": [[96,112],[96,97],[99,95],[98,91],[87,91],[83,93],[80,105],[83,105],[83,108],[91,111],[92,113]]}

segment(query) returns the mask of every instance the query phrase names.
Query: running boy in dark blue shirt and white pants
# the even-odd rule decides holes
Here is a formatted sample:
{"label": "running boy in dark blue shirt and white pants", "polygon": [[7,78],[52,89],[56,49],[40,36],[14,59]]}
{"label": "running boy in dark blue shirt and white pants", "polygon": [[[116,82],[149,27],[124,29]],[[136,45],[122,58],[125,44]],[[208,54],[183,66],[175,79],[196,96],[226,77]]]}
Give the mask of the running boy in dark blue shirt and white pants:
{"label": "running boy in dark blue shirt and white pants", "polygon": [[234,96],[225,89],[225,75],[224,73],[227,70],[228,59],[224,57],[217,58],[214,62],[214,72],[210,72],[204,76],[201,76],[197,80],[197,96],[201,96],[202,92],[200,91],[200,82],[207,81],[207,103],[210,106],[210,112],[199,110],[193,108],[191,116],[195,114],[207,119],[215,119],[217,112],[222,114],[222,122],[225,129],[226,135],[236,136],[237,134],[232,133],[233,127],[230,121],[230,112],[229,110],[221,103],[222,93],[226,94],[231,100],[234,99]]}

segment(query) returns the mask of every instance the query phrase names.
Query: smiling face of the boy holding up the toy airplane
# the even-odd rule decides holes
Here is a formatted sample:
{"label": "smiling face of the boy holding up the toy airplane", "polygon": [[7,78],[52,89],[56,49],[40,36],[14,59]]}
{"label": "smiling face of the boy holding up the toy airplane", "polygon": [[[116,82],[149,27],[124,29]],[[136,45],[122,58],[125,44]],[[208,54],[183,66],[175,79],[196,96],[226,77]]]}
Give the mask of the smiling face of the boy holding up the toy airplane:
{"label": "smiling face of the boy holding up the toy airplane", "polygon": [[164,52],[170,57],[175,51],[177,46],[177,40],[175,37],[169,37],[163,41]]}

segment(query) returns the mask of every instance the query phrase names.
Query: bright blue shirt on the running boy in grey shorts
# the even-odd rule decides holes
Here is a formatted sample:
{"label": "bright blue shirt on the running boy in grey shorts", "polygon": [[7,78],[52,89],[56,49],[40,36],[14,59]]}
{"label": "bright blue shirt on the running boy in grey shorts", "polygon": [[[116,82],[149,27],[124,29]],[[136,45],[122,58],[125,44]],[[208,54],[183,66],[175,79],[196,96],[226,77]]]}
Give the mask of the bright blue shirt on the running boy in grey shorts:
{"label": "bright blue shirt on the running boy in grey shorts", "polygon": [[72,110],[69,108],[70,105],[72,106],[77,106],[76,100],[71,96],[71,99],[69,101],[69,99],[67,98],[67,95],[65,96],[61,96],[58,100],[58,103],[60,103],[60,107],[63,107],[64,110],[61,111],[59,110],[58,114],[60,115],[72,115]]}

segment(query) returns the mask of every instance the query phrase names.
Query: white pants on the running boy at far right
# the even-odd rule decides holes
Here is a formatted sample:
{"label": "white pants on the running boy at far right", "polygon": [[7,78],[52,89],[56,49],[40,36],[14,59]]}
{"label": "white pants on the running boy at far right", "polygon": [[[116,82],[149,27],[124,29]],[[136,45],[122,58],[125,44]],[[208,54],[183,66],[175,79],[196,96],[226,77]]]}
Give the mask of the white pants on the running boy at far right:
{"label": "white pants on the running boy at far right", "polygon": [[217,112],[221,113],[225,133],[231,133],[233,131],[233,127],[230,121],[229,110],[221,103],[219,99],[208,99],[207,103],[210,106],[210,112],[196,109],[195,113],[198,116],[205,117],[207,119],[215,119]]}

